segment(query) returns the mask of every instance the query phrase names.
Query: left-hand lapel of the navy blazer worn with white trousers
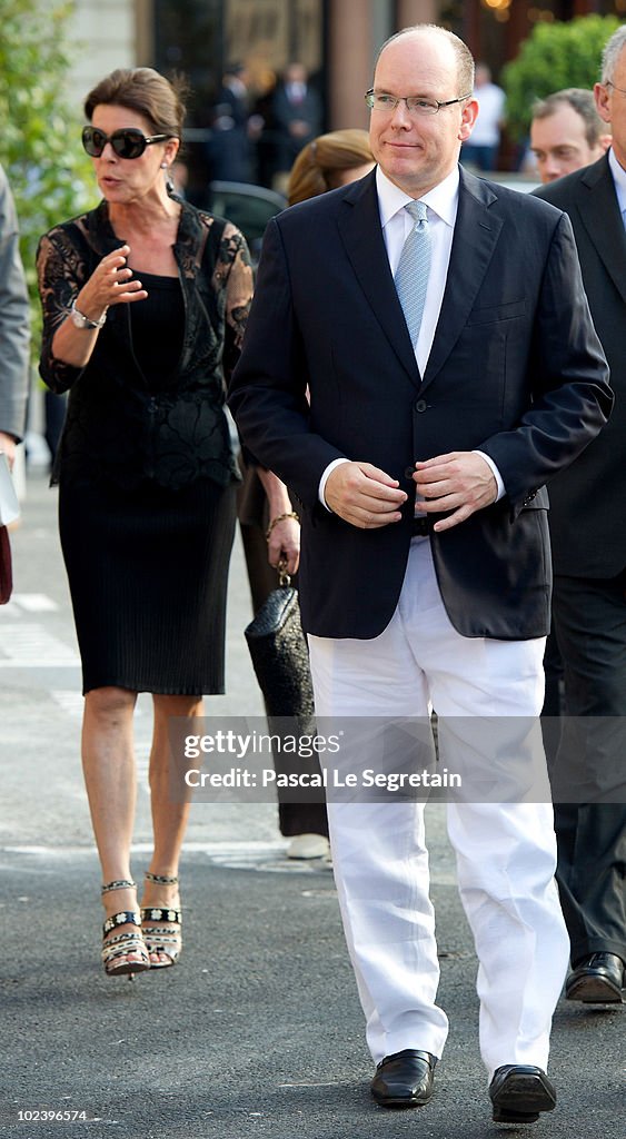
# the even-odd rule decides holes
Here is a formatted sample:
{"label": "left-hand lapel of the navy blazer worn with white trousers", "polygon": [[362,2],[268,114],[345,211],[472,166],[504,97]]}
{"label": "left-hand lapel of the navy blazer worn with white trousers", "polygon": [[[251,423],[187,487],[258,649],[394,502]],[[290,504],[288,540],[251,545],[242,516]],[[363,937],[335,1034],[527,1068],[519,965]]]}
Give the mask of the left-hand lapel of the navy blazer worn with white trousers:
{"label": "left-hand lapel of the navy blazer worn with white trousers", "polygon": [[415,353],[396,293],[389,259],[385,248],[376,174],[348,187],[339,233],[359,284],[411,382],[420,386]]}

